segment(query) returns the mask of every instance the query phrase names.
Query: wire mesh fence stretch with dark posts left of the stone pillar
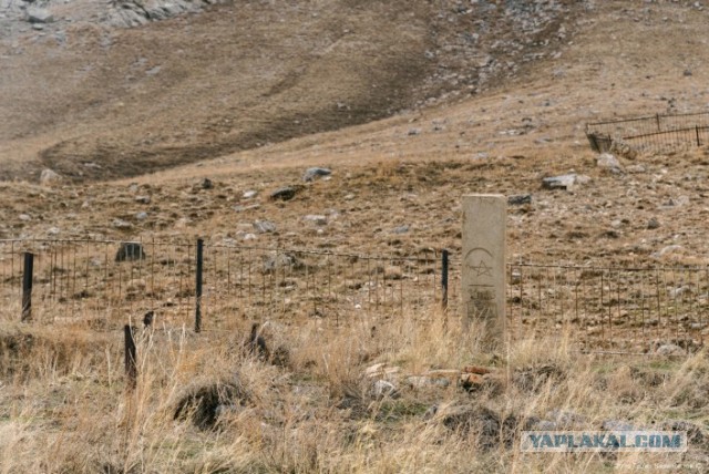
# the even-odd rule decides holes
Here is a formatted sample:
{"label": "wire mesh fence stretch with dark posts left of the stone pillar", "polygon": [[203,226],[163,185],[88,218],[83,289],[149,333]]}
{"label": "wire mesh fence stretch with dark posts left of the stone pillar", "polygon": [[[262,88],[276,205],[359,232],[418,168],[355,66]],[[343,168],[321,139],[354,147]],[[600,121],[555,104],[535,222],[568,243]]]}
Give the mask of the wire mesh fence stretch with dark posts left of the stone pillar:
{"label": "wire mesh fence stretch with dark posts left of the stone pillar", "polygon": [[4,319],[23,312],[28,253],[30,318],[43,322],[115,328],[154,311],[158,323],[198,330],[304,317],[339,326],[362,316],[430,315],[442,298],[435,250],[372,257],[199,243],[3,240]]}

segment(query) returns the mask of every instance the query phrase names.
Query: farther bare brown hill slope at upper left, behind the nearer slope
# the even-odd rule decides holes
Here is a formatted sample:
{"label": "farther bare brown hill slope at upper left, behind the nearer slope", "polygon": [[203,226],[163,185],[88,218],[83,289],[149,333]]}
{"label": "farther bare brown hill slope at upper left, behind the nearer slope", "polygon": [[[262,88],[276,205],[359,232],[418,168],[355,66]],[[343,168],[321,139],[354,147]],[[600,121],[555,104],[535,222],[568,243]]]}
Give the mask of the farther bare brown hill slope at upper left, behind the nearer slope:
{"label": "farther bare brown hill slope at upper left, behind the nearer slope", "polygon": [[135,176],[482,93],[558,54],[585,7],[233,1],[130,29],[129,1],[49,2],[32,28],[6,8],[2,177]]}

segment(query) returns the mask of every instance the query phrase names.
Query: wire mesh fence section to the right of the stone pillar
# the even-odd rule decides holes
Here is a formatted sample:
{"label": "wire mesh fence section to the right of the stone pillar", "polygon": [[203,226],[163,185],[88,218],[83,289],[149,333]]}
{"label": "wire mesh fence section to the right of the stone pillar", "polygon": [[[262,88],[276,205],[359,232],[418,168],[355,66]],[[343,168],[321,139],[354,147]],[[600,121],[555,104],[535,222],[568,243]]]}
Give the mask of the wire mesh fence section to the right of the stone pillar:
{"label": "wire mesh fence section to the right of the stone pillar", "polygon": [[511,265],[513,339],[566,333],[580,351],[657,353],[703,346],[709,268]]}

